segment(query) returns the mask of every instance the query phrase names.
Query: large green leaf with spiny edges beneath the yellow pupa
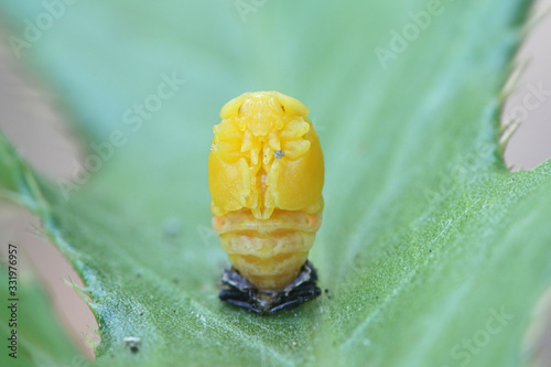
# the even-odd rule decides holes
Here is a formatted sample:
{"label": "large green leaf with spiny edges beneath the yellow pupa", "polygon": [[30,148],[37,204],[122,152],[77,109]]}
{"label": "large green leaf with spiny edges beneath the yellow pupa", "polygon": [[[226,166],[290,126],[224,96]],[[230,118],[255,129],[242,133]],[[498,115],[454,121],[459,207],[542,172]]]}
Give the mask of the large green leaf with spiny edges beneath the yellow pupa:
{"label": "large green leaf with spiny edges beneath the yellow pupa", "polygon": [[[551,164],[509,173],[497,141],[530,1],[53,3],[14,52],[87,136],[85,173],[48,182],[0,141],[0,182],[82,276],[98,365],[527,363]],[[0,1],[9,40],[44,7]],[[310,259],[328,295],[259,317],[217,300],[206,162],[219,108],[271,89],[324,149]]]}

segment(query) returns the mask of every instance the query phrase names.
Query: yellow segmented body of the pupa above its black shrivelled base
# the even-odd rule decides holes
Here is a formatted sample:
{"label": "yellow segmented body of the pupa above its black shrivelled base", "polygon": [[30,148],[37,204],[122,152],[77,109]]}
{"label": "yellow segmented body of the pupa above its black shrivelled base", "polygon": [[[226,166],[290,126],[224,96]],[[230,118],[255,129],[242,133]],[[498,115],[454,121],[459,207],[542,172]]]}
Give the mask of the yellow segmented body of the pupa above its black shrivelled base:
{"label": "yellow segmented body of the pupa above its black shrivelled base", "polygon": [[323,154],[307,112],[278,91],[246,93],[222,108],[214,127],[213,228],[258,289],[296,278],[321,225]]}

